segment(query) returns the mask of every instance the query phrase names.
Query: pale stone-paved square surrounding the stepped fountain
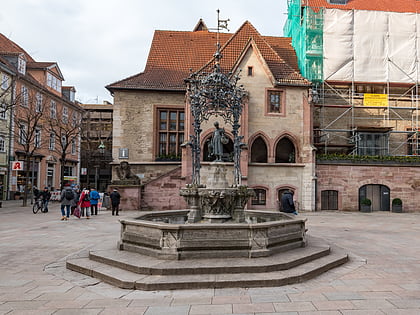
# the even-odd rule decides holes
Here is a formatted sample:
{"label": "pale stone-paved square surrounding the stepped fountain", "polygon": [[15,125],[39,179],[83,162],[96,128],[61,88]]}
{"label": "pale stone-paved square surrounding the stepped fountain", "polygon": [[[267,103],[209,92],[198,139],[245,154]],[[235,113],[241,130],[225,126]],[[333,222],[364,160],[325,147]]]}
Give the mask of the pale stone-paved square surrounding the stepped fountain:
{"label": "pale stone-paved square surrounding the stepped fountain", "polygon": [[68,257],[116,246],[118,217],[60,221],[58,204],[35,215],[20,203],[0,209],[0,314],[420,314],[420,213],[300,214],[309,235],[351,259],[305,283],[143,292],[65,269]]}

